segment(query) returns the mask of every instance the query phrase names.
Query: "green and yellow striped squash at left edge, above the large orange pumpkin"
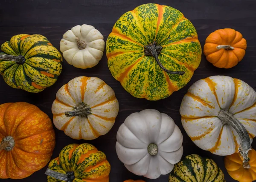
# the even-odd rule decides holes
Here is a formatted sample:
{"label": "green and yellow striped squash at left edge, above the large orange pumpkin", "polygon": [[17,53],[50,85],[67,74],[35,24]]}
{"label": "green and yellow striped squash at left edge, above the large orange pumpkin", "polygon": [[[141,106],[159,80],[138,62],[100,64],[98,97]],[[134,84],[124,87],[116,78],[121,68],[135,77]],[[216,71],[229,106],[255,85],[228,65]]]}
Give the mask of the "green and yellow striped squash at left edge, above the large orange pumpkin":
{"label": "green and yellow striped squash at left edge, above the large orange pumpkin", "polygon": [[0,74],[13,88],[41,92],[61,74],[61,53],[42,35],[15,35],[1,50]]}

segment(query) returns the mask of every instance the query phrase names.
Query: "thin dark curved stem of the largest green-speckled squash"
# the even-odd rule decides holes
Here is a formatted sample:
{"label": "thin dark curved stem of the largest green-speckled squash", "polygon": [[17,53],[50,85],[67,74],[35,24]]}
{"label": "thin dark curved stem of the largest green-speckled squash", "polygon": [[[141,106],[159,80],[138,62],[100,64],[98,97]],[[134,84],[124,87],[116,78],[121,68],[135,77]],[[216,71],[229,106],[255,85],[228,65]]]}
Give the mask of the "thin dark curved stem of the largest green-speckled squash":
{"label": "thin dark curved stem of the largest green-speckled squash", "polygon": [[159,61],[158,55],[160,54],[162,50],[162,46],[158,45],[156,41],[153,43],[149,44],[148,46],[144,46],[145,48],[145,56],[153,56],[154,59],[157,61],[157,64],[160,66],[160,68],[163,69],[163,71],[169,73],[169,74],[180,74],[183,75],[185,72],[184,71],[171,71],[166,69]]}

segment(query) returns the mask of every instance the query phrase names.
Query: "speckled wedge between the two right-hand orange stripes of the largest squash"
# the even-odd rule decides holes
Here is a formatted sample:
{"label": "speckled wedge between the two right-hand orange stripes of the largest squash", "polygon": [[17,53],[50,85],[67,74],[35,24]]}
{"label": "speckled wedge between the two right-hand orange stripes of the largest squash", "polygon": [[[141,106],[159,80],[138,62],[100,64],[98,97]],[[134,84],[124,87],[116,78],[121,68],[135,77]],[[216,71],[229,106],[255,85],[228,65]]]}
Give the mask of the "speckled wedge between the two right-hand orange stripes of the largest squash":
{"label": "speckled wedge between the two right-hand orange stripes of the largest squash", "polygon": [[172,44],[164,47],[161,53],[188,64],[194,70],[198,68],[202,54],[201,45],[198,40]]}

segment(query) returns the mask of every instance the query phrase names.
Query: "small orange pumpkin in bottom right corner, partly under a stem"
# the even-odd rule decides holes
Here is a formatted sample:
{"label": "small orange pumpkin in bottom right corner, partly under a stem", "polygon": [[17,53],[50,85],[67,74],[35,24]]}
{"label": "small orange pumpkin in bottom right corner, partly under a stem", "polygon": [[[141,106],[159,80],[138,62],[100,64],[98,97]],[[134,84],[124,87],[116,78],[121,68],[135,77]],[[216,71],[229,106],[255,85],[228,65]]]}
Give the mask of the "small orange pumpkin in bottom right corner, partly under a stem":
{"label": "small orange pumpkin in bottom right corner, partly under a stem", "polygon": [[252,182],[256,180],[256,151],[249,151],[249,162],[243,163],[240,153],[225,156],[225,168],[229,175],[239,182]]}

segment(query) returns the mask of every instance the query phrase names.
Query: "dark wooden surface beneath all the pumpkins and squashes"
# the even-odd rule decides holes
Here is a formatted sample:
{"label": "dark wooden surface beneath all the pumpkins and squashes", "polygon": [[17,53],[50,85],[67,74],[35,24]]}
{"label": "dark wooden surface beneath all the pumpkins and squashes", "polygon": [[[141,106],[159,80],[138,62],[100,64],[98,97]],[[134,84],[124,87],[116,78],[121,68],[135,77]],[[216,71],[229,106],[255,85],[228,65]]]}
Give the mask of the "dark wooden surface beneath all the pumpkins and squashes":
{"label": "dark wooden surface beneath all the pumpkins and squashes", "polygon": [[[239,78],[256,89],[256,0],[0,0],[0,44],[10,40],[15,34],[42,34],[59,49],[62,35],[73,26],[82,24],[94,26],[106,40],[114,23],[122,14],[144,3],[158,3],[180,10],[197,29],[202,47],[206,37],[219,28],[234,28],[240,31],[247,40],[244,59],[234,68],[220,69],[208,63],[202,55],[201,64],[188,85],[169,98],[155,102],[137,99],[128,94],[111,76],[105,54],[98,65],[85,70],[75,68],[64,60],[63,72],[55,85],[38,94],[11,88],[0,77],[0,104],[29,102],[37,105],[52,118],[51,105],[55,100],[56,92],[62,85],[79,76],[99,77],[113,88],[119,100],[120,109],[115,125],[108,134],[92,141],[71,139],[63,131],[55,128],[56,147],[52,158],[57,157],[61,149],[70,143],[88,142],[103,151],[111,163],[110,182],[123,182],[125,179],[168,182],[169,175],[162,175],[160,178],[152,180],[130,173],[117,158],[115,150],[116,132],[125,118],[131,113],[154,108],[168,114],[179,126],[183,133],[183,156],[199,154],[212,158],[224,172],[226,181],[232,182],[234,180],[224,168],[224,157],[201,150],[187,136],[180,122],[179,108],[189,86],[197,80],[212,75],[228,75]],[[253,148],[256,148],[256,142],[253,142]],[[46,175],[44,175],[46,168],[19,181],[46,182]],[[0,179],[0,181],[14,182],[15,180]]]}

